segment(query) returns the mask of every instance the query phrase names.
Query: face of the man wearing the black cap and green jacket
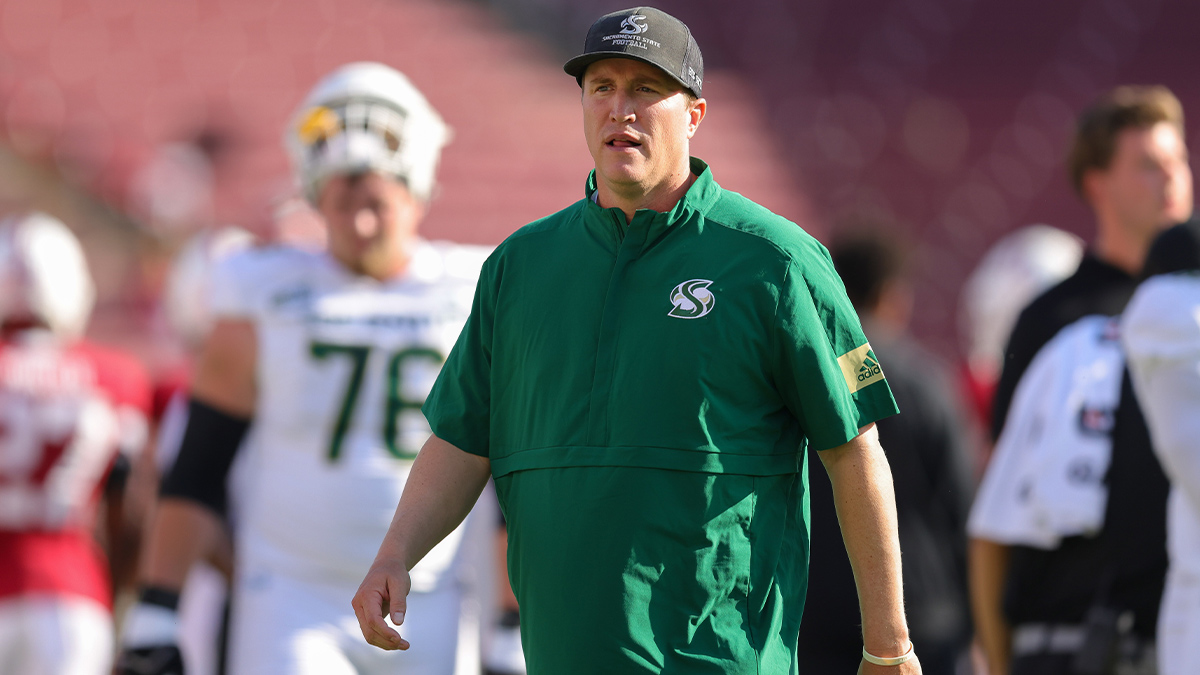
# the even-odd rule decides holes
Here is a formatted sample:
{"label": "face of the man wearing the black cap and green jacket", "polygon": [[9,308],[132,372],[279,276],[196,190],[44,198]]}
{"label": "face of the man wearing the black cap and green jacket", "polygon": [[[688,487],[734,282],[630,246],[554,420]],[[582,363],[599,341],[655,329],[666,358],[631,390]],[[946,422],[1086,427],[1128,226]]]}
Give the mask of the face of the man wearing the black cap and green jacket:
{"label": "face of the man wearing the black cap and green jacket", "polygon": [[703,98],[662,70],[634,59],[604,59],[583,73],[583,133],[596,177],[611,187],[648,192],[688,171],[688,142]]}

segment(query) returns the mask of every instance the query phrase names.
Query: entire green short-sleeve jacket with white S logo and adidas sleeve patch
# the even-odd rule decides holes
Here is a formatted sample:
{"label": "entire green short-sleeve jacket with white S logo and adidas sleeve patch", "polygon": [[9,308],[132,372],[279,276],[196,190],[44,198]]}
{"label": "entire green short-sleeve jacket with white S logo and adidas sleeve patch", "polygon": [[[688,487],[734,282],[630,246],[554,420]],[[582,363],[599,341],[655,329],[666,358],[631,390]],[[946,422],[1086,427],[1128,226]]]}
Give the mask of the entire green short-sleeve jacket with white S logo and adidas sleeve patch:
{"label": "entire green short-sleeve jacket with white S logo and adidas sleeve patch", "polygon": [[502,244],[426,400],[491,460],[530,675],[796,673],[805,446],[896,410],[826,250],[692,171]]}

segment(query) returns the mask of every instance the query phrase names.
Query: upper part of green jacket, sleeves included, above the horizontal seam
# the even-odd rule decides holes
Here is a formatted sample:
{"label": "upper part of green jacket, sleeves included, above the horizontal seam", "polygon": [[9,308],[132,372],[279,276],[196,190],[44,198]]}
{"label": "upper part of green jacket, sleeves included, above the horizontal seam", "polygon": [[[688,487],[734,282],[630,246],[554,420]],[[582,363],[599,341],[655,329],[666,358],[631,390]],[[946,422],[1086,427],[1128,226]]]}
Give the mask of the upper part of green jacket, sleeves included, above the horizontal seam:
{"label": "upper part of green jacket, sleeves included, above the horizontal seam", "polygon": [[439,437],[496,476],[770,476],[896,412],[826,249],[694,167],[670,213],[582,199],[497,249],[425,406]]}

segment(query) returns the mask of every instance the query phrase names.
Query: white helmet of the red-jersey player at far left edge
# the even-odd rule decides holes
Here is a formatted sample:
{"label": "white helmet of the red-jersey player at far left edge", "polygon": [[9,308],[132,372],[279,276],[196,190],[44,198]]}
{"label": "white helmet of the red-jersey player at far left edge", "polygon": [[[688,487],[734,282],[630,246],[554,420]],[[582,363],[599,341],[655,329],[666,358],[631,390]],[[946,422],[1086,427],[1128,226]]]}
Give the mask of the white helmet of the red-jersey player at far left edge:
{"label": "white helmet of the red-jersey player at far left edge", "polygon": [[83,246],[67,226],[42,213],[0,221],[0,322],[32,319],[78,338],[95,303]]}

